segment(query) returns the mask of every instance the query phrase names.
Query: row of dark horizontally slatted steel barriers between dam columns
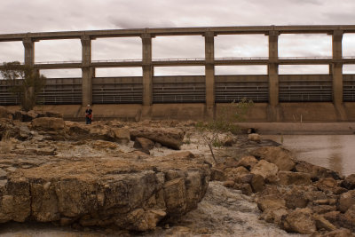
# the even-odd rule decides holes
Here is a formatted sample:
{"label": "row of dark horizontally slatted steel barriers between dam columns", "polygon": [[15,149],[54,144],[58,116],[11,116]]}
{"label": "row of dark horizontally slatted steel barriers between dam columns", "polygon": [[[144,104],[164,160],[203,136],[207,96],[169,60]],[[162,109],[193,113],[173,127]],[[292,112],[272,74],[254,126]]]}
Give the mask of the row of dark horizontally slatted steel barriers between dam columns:
{"label": "row of dark horizontally slatted steel barriers between dam columns", "polygon": [[[142,104],[142,76],[92,78],[93,104]],[[216,103],[231,103],[243,98],[268,103],[267,75],[217,75]],[[10,84],[0,80],[0,105],[19,105]],[[332,102],[331,75],[280,75],[279,101]],[[154,76],[153,103],[205,103],[203,75]],[[343,75],[343,101],[355,102],[355,75]],[[40,105],[82,104],[82,78],[49,78],[39,94]]]}

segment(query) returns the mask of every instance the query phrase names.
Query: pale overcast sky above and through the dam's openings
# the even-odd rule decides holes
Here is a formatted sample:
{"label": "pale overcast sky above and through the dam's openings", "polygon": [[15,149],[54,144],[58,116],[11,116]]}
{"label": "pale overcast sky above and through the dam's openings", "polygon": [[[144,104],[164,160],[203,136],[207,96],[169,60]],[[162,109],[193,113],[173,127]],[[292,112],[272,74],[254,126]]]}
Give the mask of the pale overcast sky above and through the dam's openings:
{"label": "pale overcast sky above and through the dam's openings", "polygon": [[[117,28],[270,25],[355,25],[354,0],[2,0],[0,34]],[[215,57],[267,57],[266,36],[217,36]],[[0,43],[0,62],[23,61],[21,42]],[[92,41],[92,59],[141,59],[141,39]],[[331,56],[331,36],[281,35],[280,57]],[[355,36],[343,36],[343,56],[355,56]],[[156,37],[154,59],[203,58],[202,36]],[[36,43],[36,62],[80,60],[80,40]],[[280,67],[281,74],[327,73],[327,66]],[[203,75],[203,67],[157,67],[155,75]],[[266,67],[217,67],[216,74],[263,74]],[[355,67],[344,67],[355,73]],[[44,75],[80,76],[75,70]],[[98,69],[97,75],[141,75],[141,68]]]}

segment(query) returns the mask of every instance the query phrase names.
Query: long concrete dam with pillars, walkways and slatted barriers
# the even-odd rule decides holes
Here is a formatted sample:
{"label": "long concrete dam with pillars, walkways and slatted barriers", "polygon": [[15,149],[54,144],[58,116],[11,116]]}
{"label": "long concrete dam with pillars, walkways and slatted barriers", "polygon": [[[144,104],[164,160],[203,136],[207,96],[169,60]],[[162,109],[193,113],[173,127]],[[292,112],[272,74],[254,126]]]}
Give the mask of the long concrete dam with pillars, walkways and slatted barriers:
{"label": "long concrete dam with pillars, walkways and slatted barriers", "polygon": [[[20,41],[24,64],[41,69],[80,68],[81,77],[48,78],[39,96],[41,109],[61,112],[67,119],[83,118],[86,105],[93,105],[103,119],[205,119],[218,115],[233,100],[252,99],[250,122],[353,122],[355,121],[355,75],[343,75],[343,65],[355,64],[343,57],[343,35],[355,33],[355,25],[261,26],[212,28],[138,28],[62,31],[0,35],[0,42]],[[323,34],[332,37],[331,57],[279,57],[281,34]],[[264,35],[268,57],[216,58],[219,35]],[[203,36],[201,59],[153,59],[156,36]],[[142,59],[91,59],[91,42],[97,38],[140,37]],[[82,60],[37,63],[35,43],[53,39],[78,39]],[[266,75],[216,75],[216,66],[264,65]],[[327,75],[280,75],[280,65],[327,65]],[[154,67],[201,66],[204,75],[154,75]],[[141,67],[142,76],[96,77],[96,68]],[[0,105],[15,108],[10,84],[0,80]]]}

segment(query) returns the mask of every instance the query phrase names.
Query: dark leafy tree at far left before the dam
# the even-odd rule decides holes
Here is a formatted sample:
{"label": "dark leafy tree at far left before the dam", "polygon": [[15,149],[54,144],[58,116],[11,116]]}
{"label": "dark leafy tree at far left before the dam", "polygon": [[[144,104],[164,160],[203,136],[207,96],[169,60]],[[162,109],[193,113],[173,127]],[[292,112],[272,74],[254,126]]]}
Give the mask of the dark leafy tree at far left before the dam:
{"label": "dark leafy tree at far left before the dam", "polygon": [[38,94],[45,85],[45,76],[28,65],[21,65],[20,62],[4,62],[0,73],[10,83],[9,91],[19,100],[23,110],[29,111],[36,106]]}

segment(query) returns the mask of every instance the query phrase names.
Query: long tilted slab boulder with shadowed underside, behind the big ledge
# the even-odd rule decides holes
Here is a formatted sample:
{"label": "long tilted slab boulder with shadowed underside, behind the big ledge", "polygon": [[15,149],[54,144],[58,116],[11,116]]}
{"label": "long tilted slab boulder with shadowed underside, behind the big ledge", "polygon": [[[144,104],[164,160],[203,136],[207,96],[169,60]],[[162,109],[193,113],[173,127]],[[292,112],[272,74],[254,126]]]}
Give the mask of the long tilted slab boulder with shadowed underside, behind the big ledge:
{"label": "long tilted slab boulder with shadowed underside, behind the big ledge", "polygon": [[141,128],[130,130],[130,139],[147,138],[175,150],[183,144],[185,132],[173,128]]}

